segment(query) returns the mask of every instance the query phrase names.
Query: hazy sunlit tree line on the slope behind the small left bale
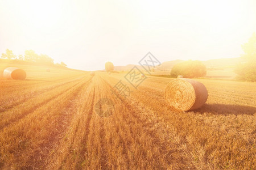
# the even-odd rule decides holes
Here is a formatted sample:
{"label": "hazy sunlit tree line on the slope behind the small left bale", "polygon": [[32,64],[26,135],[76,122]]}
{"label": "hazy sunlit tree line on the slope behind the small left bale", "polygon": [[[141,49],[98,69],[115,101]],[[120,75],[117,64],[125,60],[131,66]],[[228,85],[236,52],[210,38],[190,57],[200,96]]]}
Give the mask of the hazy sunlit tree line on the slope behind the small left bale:
{"label": "hazy sunlit tree line on the slope behind the small left bale", "polygon": [[46,54],[36,54],[34,50],[25,50],[24,55],[15,56],[12,50],[6,49],[6,53],[2,53],[1,58],[40,63],[42,65],[56,65],[67,67],[64,62],[54,63],[54,59],[52,59],[51,57],[47,56]]}

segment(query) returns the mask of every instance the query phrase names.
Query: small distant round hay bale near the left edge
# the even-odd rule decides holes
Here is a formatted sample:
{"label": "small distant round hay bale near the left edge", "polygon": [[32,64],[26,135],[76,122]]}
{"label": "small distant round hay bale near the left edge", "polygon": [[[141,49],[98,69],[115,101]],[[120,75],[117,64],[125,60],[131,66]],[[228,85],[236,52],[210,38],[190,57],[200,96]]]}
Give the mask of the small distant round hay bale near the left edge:
{"label": "small distant round hay bale near the left edge", "polygon": [[24,80],[26,79],[26,71],[16,68],[16,67],[7,67],[3,71],[3,77],[7,79],[19,79],[19,80]]}

